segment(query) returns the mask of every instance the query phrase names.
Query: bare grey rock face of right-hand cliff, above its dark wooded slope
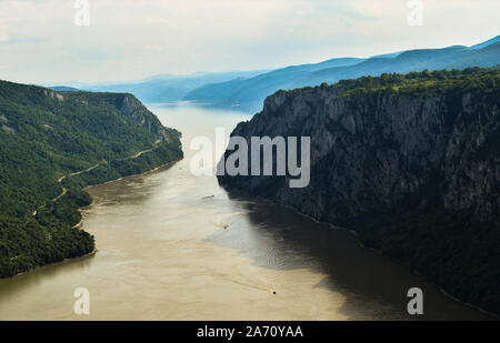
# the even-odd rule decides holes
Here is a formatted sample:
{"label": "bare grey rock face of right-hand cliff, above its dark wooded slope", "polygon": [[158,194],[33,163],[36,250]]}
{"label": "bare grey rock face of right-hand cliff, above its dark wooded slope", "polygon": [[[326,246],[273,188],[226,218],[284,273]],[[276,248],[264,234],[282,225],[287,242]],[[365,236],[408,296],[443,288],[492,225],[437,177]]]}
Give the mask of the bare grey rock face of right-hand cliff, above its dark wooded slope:
{"label": "bare grey rock face of right-hand cliff, above its dark wooded slope", "polygon": [[271,188],[266,176],[221,176],[220,182],[332,223],[387,210],[428,186],[439,192],[422,194],[421,205],[472,210],[484,221],[499,213],[498,103],[470,90],[453,99],[339,92],[280,91],[232,132],[247,139],[310,137],[308,188],[290,189],[277,176]]}

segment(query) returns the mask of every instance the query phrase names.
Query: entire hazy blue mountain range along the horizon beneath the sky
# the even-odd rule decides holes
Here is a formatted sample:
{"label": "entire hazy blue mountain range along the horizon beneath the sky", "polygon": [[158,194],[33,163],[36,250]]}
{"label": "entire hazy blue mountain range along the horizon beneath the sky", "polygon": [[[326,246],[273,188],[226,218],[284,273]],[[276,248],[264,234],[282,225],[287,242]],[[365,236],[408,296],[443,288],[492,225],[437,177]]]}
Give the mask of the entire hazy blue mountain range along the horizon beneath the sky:
{"label": "entire hazy blue mountain range along the horizon beneath the sky", "polygon": [[[133,93],[143,102],[187,100],[204,105],[259,111],[266,97],[276,91],[336,83],[362,75],[410,71],[493,67],[500,62],[500,36],[472,47],[418,49],[373,56],[368,59],[338,58],[320,63],[291,65],[272,71],[233,71],[192,75],[154,75],[140,81],[52,87],[59,91],[88,90]],[[70,85],[70,87],[68,87]]]}

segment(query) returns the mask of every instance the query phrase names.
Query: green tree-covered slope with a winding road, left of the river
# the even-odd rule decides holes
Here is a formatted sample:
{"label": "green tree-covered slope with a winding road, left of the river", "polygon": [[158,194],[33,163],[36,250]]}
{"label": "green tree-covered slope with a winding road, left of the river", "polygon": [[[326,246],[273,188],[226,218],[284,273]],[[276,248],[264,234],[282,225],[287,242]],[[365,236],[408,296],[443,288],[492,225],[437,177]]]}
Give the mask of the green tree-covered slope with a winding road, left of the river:
{"label": "green tree-covered slope with a winding road, left of the river", "polygon": [[180,159],[179,137],[131,94],[0,81],[0,276],[91,252],[81,188]]}

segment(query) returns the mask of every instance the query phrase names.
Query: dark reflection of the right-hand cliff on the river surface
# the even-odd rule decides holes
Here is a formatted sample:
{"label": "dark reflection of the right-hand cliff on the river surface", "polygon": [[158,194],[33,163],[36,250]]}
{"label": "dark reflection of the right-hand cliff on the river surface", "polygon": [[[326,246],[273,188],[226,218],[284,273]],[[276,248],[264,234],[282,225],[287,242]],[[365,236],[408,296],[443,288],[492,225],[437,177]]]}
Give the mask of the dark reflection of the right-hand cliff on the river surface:
{"label": "dark reflection of the right-hand cliff on the river surface", "polygon": [[[260,268],[287,271],[307,268],[323,273],[317,287],[347,296],[340,312],[357,320],[486,320],[487,315],[466,307],[439,290],[362,249],[346,230],[318,223],[293,210],[232,193],[230,198],[246,216],[233,219],[229,229],[214,232],[208,241],[237,249]],[[418,286],[424,294],[424,315],[410,316],[407,291]]]}

